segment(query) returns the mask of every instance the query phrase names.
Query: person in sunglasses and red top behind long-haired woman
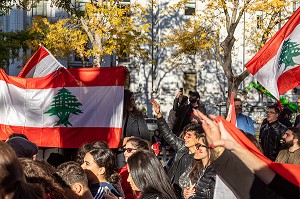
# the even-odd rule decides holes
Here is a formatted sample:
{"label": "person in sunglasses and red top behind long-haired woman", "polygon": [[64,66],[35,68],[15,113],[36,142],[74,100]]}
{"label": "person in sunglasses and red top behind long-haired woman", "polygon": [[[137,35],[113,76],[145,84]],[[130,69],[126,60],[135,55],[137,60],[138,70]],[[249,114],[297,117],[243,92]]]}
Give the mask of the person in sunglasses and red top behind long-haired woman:
{"label": "person in sunglasses and red top behind long-haired woman", "polygon": [[[130,137],[127,140],[126,144],[123,146],[125,161],[127,162],[128,158],[139,150],[150,150],[149,143],[139,137]],[[127,164],[119,170],[119,175],[121,177],[121,186],[124,191],[125,198],[137,199],[140,193],[133,190],[130,186],[130,183],[127,182],[127,178],[129,175]]]}

